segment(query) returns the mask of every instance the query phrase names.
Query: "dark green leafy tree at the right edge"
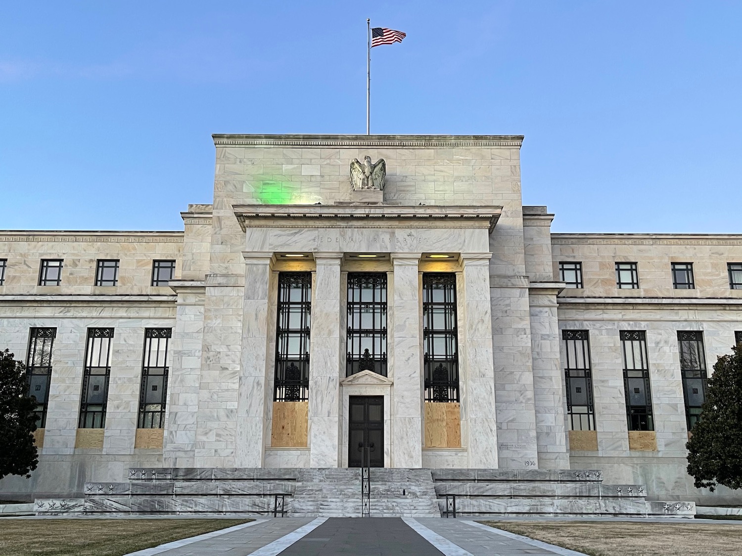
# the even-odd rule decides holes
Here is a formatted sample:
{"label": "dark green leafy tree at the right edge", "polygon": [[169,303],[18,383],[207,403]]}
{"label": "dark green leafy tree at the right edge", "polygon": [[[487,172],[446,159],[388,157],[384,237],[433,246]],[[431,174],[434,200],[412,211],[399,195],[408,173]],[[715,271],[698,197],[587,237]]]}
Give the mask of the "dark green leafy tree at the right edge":
{"label": "dark green leafy tree at the right edge", "polygon": [[709,377],[706,403],[693,427],[688,474],[697,489],[742,487],[742,345],[719,357]]}

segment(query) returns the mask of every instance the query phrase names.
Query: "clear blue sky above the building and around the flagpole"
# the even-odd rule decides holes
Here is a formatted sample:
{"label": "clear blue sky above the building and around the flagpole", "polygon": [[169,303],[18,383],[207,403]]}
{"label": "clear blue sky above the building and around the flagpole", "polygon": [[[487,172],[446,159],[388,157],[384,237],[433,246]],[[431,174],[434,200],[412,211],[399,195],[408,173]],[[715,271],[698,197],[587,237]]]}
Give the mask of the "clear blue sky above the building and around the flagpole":
{"label": "clear blue sky above the building and around the flagpole", "polygon": [[554,231],[742,233],[739,1],[4,1],[0,228],[182,229],[211,133],[524,134]]}

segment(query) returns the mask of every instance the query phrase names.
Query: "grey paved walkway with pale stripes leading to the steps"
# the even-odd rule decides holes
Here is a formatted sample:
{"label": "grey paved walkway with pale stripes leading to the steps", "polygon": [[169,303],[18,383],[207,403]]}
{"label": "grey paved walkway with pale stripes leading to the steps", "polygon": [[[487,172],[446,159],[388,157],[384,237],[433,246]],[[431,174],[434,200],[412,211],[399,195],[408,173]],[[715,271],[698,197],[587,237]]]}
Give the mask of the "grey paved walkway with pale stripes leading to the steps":
{"label": "grey paved walkway with pale stripes leading to the steps", "polygon": [[155,555],[580,556],[580,553],[468,520],[284,517],[260,519],[127,556]]}

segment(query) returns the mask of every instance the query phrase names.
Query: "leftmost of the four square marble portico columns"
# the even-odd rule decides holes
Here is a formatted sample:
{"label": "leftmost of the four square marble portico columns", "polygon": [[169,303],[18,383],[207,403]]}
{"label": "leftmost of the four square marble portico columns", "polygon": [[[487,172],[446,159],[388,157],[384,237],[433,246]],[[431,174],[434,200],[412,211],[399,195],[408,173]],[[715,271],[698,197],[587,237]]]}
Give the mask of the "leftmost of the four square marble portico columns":
{"label": "leftmost of the four square marble portico columns", "polygon": [[245,295],[234,464],[237,467],[260,467],[266,444],[263,423],[266,416],[268,281],[272,254],[246,251],[243,257],[246,263]]}

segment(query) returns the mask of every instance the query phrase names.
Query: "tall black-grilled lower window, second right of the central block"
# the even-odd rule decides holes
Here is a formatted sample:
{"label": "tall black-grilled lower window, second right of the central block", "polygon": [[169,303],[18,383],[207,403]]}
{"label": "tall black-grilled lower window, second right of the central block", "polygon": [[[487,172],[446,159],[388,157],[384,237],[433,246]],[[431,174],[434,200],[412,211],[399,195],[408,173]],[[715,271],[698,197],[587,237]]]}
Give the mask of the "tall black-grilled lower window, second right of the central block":
{"label": "tall black-grilled lower window, second right of the central block", "polygon": [[629,431],[654,431],[646,332],[622,330],[623,386]]}

